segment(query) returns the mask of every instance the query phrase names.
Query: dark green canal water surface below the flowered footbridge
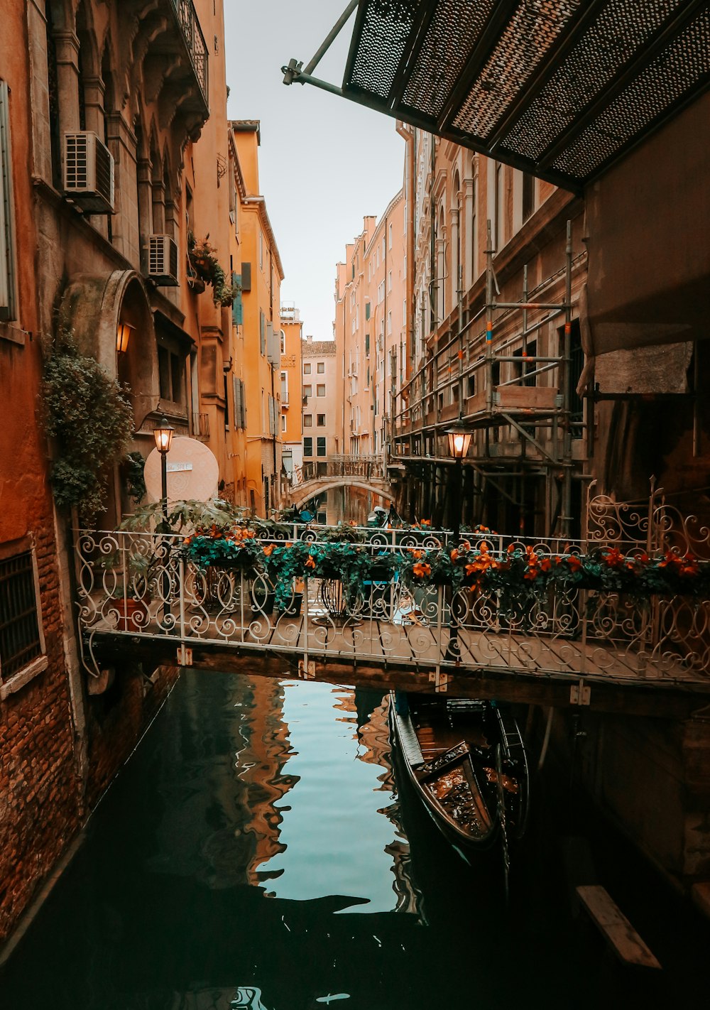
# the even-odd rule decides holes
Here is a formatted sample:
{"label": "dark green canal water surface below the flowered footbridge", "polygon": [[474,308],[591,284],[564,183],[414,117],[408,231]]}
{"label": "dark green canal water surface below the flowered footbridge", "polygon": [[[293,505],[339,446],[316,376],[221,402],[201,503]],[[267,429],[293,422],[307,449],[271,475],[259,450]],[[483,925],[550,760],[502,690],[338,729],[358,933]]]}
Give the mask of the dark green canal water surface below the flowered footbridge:
{"label": "dark green canal water surface below the flowered footbridge", "polygon": [[[704,920],[564,790],[540,780],[535,801],[506,906],[500,863],[464,864],[393,767],[386,697],[187,672],[0,972],[0,1008],[705,1005]],[[622,968],[576,911],[571,852],[663,973]]]}

